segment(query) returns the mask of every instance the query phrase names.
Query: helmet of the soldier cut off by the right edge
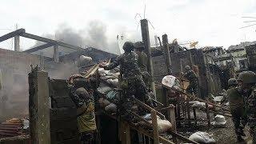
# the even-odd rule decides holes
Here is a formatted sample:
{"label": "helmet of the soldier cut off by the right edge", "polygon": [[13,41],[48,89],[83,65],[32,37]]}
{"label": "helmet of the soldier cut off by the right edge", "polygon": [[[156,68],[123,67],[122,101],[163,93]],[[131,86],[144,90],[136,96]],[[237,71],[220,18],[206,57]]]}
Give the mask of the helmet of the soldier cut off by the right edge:
{"label": "helmet of the soldier cut off by the right edge", "polygon": [[238,81],[246,84],[256,83],[256,74],[252,71],[243,71],[238,75]]}

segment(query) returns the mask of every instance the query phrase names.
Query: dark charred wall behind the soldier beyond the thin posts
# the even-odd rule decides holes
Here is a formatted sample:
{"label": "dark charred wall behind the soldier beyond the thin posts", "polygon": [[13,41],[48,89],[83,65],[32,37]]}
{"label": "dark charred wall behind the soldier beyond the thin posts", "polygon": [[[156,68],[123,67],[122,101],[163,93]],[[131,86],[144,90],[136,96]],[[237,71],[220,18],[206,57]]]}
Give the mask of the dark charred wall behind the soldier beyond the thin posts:
{"label": "dark charred wall behind the soldier beyond the thin posts", "polygon": [[[152,55],[154,65],[154,79],[158,82],[167,75],[165,59],[158,52]],[[209,93],[216,94],[221,90],[220,70],[214,60],[203,54],[202,50],[190,49],[181,50],[177,53],[170,53],[170,62],[173,75],[180,77],[186,65],[194,67],[198,74],[198,89],[201,98],[206,98]]]}

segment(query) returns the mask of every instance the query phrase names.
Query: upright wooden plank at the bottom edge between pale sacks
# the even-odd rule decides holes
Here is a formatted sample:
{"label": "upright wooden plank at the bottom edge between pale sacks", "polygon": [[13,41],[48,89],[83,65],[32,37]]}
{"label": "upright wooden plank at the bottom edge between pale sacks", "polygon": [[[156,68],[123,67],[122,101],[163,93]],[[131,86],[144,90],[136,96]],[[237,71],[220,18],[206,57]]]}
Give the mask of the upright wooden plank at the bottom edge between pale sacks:
{"label": "upright wooden plank at the bottom edge between pale sacks", "polygon": [[151,118],[153,125],[154,144],[159,144],[158,118],[156,110],[151,110]]}

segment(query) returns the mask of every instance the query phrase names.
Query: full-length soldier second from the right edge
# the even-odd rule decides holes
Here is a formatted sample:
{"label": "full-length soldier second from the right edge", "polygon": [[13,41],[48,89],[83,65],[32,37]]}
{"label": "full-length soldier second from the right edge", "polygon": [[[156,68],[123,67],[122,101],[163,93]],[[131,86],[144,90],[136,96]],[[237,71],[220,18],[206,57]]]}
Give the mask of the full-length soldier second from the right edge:
{"label": "full-length soldier second from the right edge", "polygon": [[247,118],[244,109],[244,103],[242,94],[238,93],[238,81],[235,78],[230,78],[228,81],[229,89],[227,90],[227,96],[230,102],[230,111],[232,114],[232,120],[234,122],[234,130],[237,134],[238,142],[243,142],[242,136],[244,134],[243,129],[246,126]]}

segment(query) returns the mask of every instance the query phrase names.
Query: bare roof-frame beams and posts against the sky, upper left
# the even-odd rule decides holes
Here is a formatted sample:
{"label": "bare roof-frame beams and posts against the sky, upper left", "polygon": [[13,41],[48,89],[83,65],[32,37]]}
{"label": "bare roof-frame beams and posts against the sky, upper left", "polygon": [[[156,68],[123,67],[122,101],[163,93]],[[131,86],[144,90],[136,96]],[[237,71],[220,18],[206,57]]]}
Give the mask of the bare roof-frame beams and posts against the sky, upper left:
{"label": "bare roof-frame beams and posts against the sky, upper left", "polygon": [[15,37],[14,38],[14,50],[16,50],[16,51],[20,50],[19,37],[30,38],[30,39],[34,39],[34,40],[37,40],[40,42],[46,42],[46,44],[43,44],[41,46],[36,46],[29,50],[24,50],[23,52],[26,52],[26,53],[33,53],[38,50],[46,49],[50,46],[54,46],[54,61],[55,62],[58,62],[58,51],[59,51],[58,46],[62,46],[62,47],[65,47],[65,48],[68,48],[71,50],[84,50],[84,49],[82,49],[82,47],[79,47],[79,46],[73,46],[73,45],[67,44],[65,42],[59,42],[59,41],[52,40],[50,38],[43,38],[38,35],[26,33],[25,29],[18,29],[18,30],[15,30],[8,34],[2,35],[0,37],[0,42],[6,41],[7,39],[13,38],[13,37]]}

